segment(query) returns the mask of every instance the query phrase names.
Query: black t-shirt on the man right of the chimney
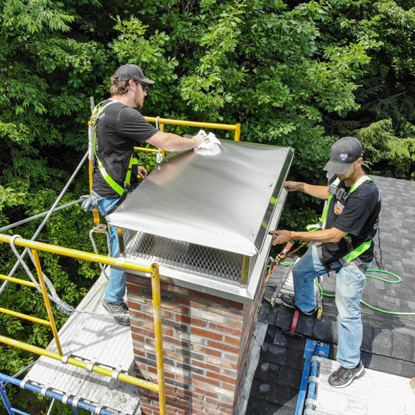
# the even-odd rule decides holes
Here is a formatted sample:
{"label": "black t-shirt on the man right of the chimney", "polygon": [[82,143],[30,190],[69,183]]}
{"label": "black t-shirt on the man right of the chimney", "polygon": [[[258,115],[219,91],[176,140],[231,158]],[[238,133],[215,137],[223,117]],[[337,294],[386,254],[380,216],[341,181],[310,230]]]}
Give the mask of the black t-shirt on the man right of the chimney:
{"label": "black t-shirt on the man right of the chimney", "polygon": [[[331,183],[335,181],[333,177]],[[339,189],[349,192],[350,187],[346,187],[344,182],[340,182]],[[356,190],[353,190],[346,200],[338,200],[332,196],[329,210],[326,215],[325,229],[337,228],[347,232],[351,237],[353,248],[358,248],[363,242],[371,241],[378,230],[380,216],[380,194],[378,187],[373,181],[365,181]],[[344,238],[339,242],[322,243],[323,260],[327,264],[347,255],[349,250]],[[359,259],[369,262],[374,259],[374,243],[363,252]]]}

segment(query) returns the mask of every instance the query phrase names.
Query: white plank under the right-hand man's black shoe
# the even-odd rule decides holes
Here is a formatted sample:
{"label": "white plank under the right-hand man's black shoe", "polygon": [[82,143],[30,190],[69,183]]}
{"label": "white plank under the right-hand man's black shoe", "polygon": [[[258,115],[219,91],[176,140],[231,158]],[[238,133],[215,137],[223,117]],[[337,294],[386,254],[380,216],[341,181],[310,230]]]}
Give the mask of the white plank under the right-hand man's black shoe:
{"label": "white plank under the right-hand man's black shoe", "polygon": [[328,379],[338,367],[335,360],[322,359],[315,415],[415,414],[410,379],[365,369],[365,375],[348,387],[334,388]]}

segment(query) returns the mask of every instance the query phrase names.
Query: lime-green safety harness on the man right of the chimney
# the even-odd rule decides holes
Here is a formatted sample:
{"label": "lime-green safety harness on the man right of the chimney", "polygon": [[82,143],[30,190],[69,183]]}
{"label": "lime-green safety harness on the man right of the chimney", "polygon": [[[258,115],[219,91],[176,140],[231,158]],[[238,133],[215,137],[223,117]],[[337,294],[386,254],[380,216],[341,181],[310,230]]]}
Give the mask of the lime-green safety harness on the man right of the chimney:
{"label": "lime-green safety harness on the man right of the chimney", "polygon": [[[350,194],[366,181],[371,181],[371,178],[367,175],[360,177],[358,181],[356,181],[356,183],[353,184],[349,192],[347,192],[344,189],[338,188],[338,185],[340,184],[340,179],[336,178],[335,181],[329,187],[329,199],[327,201],[326,208],[324,209],[322,217],[319,219],[319,223],[315,225],[308,225],[307,230],[313,231],[322,229],[322,226],[326,219],[327,212],[329,212],[330,202],[333,196],[335,196],[338,200],[343,199],[344,201],[346,201]],[[371,241],[363,242],[360,246],[358,246],[358,248],[353,248],[353,245],[351,243],[351,236],[349,234],[345,234],[343,238],[347,242],[347,249],[349,250],[349,253],[347,255],[344,255],[344,257],[338,259],[338,261],[332,262],[331,264],[326,264],[323,261],[321,243],[317,244],[317,254],[324,268],[326,268],[327,272],[329,272],[330,270],[335,270],[337,268],[340,268],[341,266],[349,266],[349,264],[353,261],[356,264],[356,266],[358,266],[358,268],[362,271],[362,273],[365,273],[367,270],[367,266],[363,264],[363,262],[359,259],[359,256],[370,248]]]}

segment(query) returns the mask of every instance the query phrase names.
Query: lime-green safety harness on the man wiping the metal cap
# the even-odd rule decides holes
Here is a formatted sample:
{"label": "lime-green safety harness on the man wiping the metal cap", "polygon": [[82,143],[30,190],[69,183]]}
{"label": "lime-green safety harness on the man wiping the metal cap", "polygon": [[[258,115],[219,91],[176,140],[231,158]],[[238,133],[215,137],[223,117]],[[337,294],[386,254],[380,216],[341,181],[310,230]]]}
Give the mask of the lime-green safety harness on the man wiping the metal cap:
{"label": "lime-green safety harness on the man wiping the metal cap", "polygon": [[[103,101],[104,102],[104,101]],[[114,212],[119,205],[121,205],[121,203],[127,199],[127,197],[129,196],[129,191],[130,191],[130,183],[131,183],[131,169],[133,167],[133,165],[137,165],[138,164],[138,160],[136,157],[134,157],[134,154],[131,154],[131,158],[129,160],[129,165],[128,165],[128,170],[127,170],[127,175],[125,176],[125,180],[124,180],[124,187],[118,185],[118,183],[113,180],[113,178],[107,173],[107,170],[105,169],[104,165],[102,164],[101,160],[98,158],[97,155],[97,136],[96,136],[96,124],[98,122],[98,120],[100,119],[100,115],[102,113],[102,111],[104,111],[104,109],[106,109],[109,105],[113,104],[114,102],[118,102],[118,101],[109,101],[108,104],[105,104],[104,107],[101,106],[102,102],[100,102],[100,104],[98,104],[92,111],[92,115],[91,115],[91,120],[89,120],[89,126],[90,126],[90,134],[91,134],[91,138],[92,140],[90,140],[91,144],[92,144],[92,149],[91,149],[91,156],[92,158],[96,158],[97,163],[98,163],[98,169],[100,169],[100,172],[102,174],[102,177],[104,178],[104,180],[108,183],[109,186],[111,186],[111,188],[117,192],[120,195],[120,199],[118,199],[118,202],[116,203],[116,205],[114,205],[114,207],[108,212],[108,214]],[[91,158],[90,158],[91,160]],[[93,160],[91,160],[93,161]]]}

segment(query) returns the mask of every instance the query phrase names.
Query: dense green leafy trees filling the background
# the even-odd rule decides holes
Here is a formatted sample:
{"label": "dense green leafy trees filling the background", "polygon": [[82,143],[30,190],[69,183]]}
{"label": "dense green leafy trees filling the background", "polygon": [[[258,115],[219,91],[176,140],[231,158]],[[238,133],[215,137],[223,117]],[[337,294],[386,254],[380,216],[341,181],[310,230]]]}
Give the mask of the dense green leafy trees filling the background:
{"label": "dense green leafy trees filling the background", "polygon": [[[295,149],[291,179],[325,183],[331,144],[353,135],[369,174],[414,180],[412,6],[409,0],[0,0],[0,227],[50,208],[86,151],[89,97],[107,98],[109,78],[127,62],[156,80],[144,115],[241,122],[241,140]],[[141,157],[154,167],[153,156]],[[85,194],[87,181],[84,167],[62,203]],[[291,194],[280,226],[304,230],[321,210],[310,197]],[[30,239],[40,221],[5,233]],[[91,225],[91,214],[75,205],[53,214],[37,240],[91,252]],[[102,252],[104,246],[100,241]],[[8,274],[15,259],[8,246],[0,250],[0,272]],[[73,305],[98,275],[98,266],[82,261],[50,254],[41,261]],[[15,284],[1,305],[46,317],[39,295]],[[62,326],[62,314],[55,317]],[[0,315],[0,333],[41,347],[50,341],[48,329],[7,315]],[[0,347],[7,374],[35,358]],[[46,413],[48,399],[8,391],[13,405]]]}

